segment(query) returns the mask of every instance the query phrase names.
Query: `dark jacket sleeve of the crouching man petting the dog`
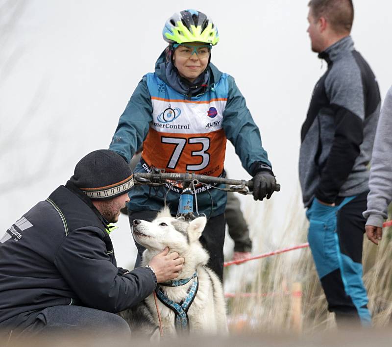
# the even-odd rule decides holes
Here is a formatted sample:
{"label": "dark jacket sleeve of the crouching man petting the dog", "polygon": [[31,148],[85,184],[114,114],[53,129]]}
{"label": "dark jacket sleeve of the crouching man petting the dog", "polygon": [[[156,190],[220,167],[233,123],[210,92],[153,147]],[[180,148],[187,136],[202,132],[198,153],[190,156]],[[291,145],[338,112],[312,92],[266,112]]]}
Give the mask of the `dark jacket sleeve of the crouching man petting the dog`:
{"label": "dark jacket sleeve of the crouching man petting the dog", "polygon": [[148,268],[137,268],[119,276],[97,227],[73,230],[59,247],[55,265],[83,304],[117,313],[129,308],[156,287]]}

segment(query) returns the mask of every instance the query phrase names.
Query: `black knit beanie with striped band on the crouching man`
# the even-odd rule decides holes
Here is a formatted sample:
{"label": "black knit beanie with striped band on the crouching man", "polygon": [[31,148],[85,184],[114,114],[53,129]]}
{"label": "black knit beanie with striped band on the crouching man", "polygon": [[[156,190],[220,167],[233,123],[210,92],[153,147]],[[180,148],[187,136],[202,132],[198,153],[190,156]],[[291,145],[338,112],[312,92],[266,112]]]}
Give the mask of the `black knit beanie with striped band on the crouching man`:
{"label": "black knit beanie with striped band on the crouching man", "polygon": [[116,198],[133,188],[127,162],[109,149],[95,150],[80,159],[70,181],[94,200]]}

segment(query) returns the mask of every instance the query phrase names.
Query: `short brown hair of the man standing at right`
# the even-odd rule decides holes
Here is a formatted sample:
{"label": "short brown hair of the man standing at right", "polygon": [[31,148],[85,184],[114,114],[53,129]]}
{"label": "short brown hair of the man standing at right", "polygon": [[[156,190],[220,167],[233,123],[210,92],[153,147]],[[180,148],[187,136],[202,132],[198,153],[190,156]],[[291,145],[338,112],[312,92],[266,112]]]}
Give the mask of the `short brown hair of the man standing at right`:
{"label": "short brown hair of the man standing at right", "polygon": [[310,0],[308,6],[315,19],[326,18],[335,32],[344,34],[351,31],[354,20],[352,0]]}

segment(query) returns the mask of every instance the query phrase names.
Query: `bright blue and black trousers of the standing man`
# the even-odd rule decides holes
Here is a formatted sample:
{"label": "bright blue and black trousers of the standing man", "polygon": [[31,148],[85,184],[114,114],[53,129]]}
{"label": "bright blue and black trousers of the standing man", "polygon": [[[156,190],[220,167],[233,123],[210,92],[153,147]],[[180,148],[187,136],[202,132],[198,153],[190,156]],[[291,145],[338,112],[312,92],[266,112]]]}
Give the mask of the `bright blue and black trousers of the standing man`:
{"label": "bright blue and black trousers of the standing man", "polygon": [[336,206],[316,198],[306,212],[308,241],[321,281],[328,310],[337,323],[359,320],[371,324],[368,297],[362,281],[362,243],[368,192],[343,198]]}

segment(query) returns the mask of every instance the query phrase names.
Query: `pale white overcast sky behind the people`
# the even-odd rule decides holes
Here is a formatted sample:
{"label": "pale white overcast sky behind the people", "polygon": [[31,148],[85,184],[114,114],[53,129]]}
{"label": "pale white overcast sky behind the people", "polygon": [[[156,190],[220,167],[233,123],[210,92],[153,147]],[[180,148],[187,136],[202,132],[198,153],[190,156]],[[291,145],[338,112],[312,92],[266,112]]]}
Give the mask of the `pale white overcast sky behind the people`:
{"label": "pale white overcast sky behind the people", "polygon": [[[212,61],[235,77],[260,127],[282,185],[272,199],[279,229],[298,189],[301,124],[326,67],[310,50],[307,2],[0,0],[0,234],[64,184],[81,157],[108,148],[131,93],[166,46],[166,19],[186,8],[219,28]],[[354,6],[352,37],[384,98],[392,84],[392,4]],[[225,166],[232,178],[249,178],[230,144]],[[245,206],[251,200],[242,198]],[[125,217],[119,225],[113,240],[124,265],[132,243]]]}

